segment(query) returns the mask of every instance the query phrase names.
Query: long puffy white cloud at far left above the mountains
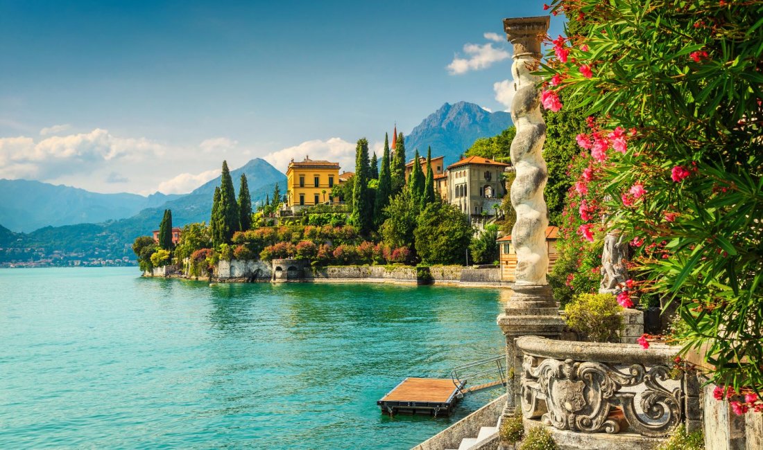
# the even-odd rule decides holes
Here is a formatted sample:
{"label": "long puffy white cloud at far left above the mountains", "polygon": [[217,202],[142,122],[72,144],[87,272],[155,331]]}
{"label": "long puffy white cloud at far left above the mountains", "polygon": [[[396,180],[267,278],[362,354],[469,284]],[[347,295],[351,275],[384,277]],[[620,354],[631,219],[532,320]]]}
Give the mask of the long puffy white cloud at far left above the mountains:
{"label": "long puffy white cloud at far left above the mountains", "polygon": [[26,136],[0,138],[0,177],[50,180],[89,173],[110,161],[144,161],[165,150],[165,145],[148,139],[121,138],[98,128],[39,142]]}

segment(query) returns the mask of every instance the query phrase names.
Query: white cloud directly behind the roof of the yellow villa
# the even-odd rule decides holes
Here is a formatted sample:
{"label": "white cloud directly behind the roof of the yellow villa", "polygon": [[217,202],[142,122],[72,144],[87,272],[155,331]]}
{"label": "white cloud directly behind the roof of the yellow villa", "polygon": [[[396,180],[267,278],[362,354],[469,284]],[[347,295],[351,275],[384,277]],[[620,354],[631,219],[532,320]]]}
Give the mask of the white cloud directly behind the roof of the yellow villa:
{"label": "white cloud directly behind the roof of the yellow villa", "polygon": [[279,171],[285,172],[289,161],[302,161],[305,156],[314,160],[326,160],[338,162],[341,171],[355,171],[355,146],[353,142],[347,142],[340,138],[331,138],[326,141],[314,139],[302,142],[294,147],[283,148],[278,152],[272,152],[262,157],[265,161],[273,164]]}

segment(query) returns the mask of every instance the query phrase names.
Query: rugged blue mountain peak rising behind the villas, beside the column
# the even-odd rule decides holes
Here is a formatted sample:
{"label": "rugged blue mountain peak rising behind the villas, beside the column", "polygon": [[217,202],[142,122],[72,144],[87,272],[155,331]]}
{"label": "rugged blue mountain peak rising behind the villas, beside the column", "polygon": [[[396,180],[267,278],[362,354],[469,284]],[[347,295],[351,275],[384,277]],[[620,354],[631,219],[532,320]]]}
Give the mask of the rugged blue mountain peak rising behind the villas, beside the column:
{"label": "rugged blue mountain peak rising behind the villas, beside the column", "polygon": [[510,113],[491,113],[465,101],[446,103],[405,136],[405,153],[413,158],[418,148],[421,155],[427,155],[427,146],[431,146],[432,156],[444,155],[445,164],[453,164],[475,140],[495,136],[511,124]]}

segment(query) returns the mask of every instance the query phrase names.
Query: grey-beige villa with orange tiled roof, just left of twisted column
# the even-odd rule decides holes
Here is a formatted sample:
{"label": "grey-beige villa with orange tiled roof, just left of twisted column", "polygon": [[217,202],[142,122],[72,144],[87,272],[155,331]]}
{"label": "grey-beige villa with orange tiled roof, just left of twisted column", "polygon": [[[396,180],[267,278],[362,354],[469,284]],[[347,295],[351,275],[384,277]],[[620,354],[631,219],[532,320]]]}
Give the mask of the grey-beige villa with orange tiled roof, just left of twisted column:
{"label": "grey-beige villa with orange tiled roof, just left of twisted column", "polygon": [[469,216],[495,215],[506,184],[501,175],[510,164],[470,156],[448,166],[447,199]]}

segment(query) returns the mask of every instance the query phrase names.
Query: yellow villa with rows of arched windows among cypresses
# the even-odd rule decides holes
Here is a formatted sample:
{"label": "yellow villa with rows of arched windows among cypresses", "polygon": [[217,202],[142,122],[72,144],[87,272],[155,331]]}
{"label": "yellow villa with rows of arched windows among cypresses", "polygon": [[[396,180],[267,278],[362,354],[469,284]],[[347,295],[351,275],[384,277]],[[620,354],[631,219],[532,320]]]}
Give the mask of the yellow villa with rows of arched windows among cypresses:
{"label": "yellow villa with rows of arched windows among cypresses", "polygon": [[286,169],[286,207],[296,212],[307,206],[331,202],[331,188],[338,183],[338,162],[314,161],[307,156],[304,161],[292,159]]}

